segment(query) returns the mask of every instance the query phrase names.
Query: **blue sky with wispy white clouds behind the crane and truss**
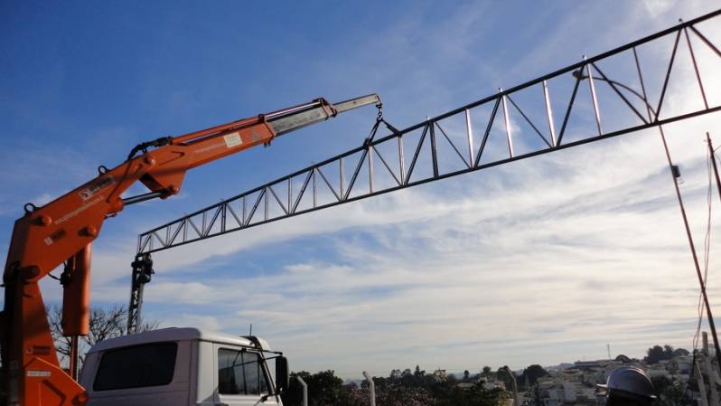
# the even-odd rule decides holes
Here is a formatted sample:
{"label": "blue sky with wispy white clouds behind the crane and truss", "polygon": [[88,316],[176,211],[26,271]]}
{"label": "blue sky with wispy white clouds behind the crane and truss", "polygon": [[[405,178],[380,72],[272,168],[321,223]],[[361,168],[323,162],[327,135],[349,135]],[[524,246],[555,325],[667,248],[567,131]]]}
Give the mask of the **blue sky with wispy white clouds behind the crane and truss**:
{"label": "blue sky with wispy white clouds behind the crane and truss", "polygon": [[[0,245],[23,203],[47,203],[146,139],[370,92],[407,127],[712,9],[651,0],[5,2]],[[719,27],[707,30],[721,38]],[[672,94],[677,106],[693,96]],[[198,168],[180,196],[106,222],[95,303],[126,303],[138,233],[358,146],[374,116],[354,111]],[[668,128],[699,247],[701,140],[717,124]],[[294,369],[344,377],[416,364],[557,364],[603,357],[607,343],[630,355],[688,347],[698,289],[658,138],[598,144],[158,254],[145,316],[236,334],[252,323]],[[709,280],[717,294],[713,272]],[[43,288],[58,301],[54,281]]]}

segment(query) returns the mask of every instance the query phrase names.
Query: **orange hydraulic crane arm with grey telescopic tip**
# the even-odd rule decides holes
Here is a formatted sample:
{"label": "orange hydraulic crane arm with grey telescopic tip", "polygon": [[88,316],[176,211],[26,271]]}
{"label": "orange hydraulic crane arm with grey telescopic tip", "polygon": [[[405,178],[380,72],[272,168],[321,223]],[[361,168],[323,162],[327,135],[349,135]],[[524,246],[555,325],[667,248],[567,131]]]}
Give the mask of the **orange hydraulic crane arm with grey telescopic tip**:
{"label": "orange hydraulic crane arm with grey telescopic tip", "polygon": [[[158,138],[133,149],[126,162],[106,170],[41,208],[25,205],[14,224],[5,264],[3,367],[10,404],[83,404],[85,390],[61,370],[55,354],[38,281],[65,263],[63,334],[88,333],[90,244],[108,216],[126,204],[178,194],[188,169],[268,144],[295,129],[342,111],[376,104],[371,94],[332,105],[325,99],[196,131]],[[148,150],[149,147],[155,147]],[[136,156],[137,153],[141,155]],[[148,194],[122,198],[137,181]]]}

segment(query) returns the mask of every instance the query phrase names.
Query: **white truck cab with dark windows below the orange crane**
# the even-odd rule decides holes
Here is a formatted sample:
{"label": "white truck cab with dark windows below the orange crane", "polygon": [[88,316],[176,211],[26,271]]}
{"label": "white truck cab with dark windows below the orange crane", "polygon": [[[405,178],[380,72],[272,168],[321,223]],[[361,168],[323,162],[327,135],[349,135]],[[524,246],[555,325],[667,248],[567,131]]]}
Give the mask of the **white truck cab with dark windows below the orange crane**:
{"label": "white truck cab with dark windows below the orange crane", "polygon": [[173,327],[93,346],[80,383],[89,406],[282,406],[288,366],[260,338]]}

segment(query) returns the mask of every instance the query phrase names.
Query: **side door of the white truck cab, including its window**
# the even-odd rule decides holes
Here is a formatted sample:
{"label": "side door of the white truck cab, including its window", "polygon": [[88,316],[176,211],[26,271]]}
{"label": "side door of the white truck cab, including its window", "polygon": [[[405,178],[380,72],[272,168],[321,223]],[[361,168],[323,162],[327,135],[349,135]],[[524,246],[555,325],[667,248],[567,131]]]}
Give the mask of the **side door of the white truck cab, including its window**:
{"label": "side door of the white truck cab, including its window", "polygon": [[230,345],[213,345],[216,359],[216,404],[228,406],[277,405],[276,397],[259,402],[271,391],[267,365],[255,351]]}

